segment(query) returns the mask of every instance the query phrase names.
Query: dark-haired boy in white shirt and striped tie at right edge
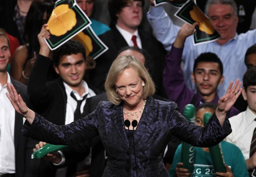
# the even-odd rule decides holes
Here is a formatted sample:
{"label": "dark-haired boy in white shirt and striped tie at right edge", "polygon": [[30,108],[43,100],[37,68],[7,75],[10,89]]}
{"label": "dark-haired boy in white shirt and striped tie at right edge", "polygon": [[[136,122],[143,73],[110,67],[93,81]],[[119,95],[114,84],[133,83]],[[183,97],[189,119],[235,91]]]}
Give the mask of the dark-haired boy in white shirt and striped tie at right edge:
{"label": "dark-haired boy in white shirt and striped tie at right edge", "polygon": [[226,141],[237,145],[246,159],[247,169],[256,168],[256,66],[250,68],[243,75],[243,99],[248,103],[246,111],[231,117],[232,133]]}

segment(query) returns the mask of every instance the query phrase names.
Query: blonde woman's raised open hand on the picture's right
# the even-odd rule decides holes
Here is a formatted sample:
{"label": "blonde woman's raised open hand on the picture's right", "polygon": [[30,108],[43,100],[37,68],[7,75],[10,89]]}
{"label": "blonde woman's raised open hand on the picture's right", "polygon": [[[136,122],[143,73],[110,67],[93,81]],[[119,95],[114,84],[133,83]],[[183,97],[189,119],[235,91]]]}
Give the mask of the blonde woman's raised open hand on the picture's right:
{"label": "blonde woman's raised open hand on the picture's right", "polygon": [[237,101],[238,96],[242,92],[242,88],[240,89],[242,82],[239,82],[239,79],[235,81],[233,85],[233,81],[230,82],[229,87],[227,88],[226,94],[222,96],[218,101],[217,110],[219,113],[226,114],[227,111],[231,109],[234,105],[235,101]]}

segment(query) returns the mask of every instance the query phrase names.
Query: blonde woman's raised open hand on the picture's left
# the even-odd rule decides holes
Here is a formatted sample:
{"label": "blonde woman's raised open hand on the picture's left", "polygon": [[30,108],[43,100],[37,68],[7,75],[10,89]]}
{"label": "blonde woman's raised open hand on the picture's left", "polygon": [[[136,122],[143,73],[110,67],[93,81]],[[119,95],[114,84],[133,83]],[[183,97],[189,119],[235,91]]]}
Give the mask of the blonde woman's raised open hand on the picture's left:
{"label": "blonde woman's raised open hand on the picture's left", "polygon": [[29,124],[32,124],[35,118],[35,112],[27,107],[26,103],[21,98],[21,95],[18,95],[13,84],[10,85],[10,83],[7,83],[7,90],[8,93],[6,93],[6,95],[10,100],[11,104],[13,105],[14,109],[18,113],[22,114],[29,122]]}

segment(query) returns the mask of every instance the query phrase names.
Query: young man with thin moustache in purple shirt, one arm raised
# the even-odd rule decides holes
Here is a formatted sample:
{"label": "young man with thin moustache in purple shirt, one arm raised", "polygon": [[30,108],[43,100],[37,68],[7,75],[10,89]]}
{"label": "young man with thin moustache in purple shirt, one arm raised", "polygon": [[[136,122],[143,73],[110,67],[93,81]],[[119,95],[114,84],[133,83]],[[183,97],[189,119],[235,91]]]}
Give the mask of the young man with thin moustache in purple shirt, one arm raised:
{"label": "young man with thin moustache in purple shirt, one arm raised", "polygon": [[[197,88],[196,94],[185,84],[181,68],[181,58],[184,42],[187,36],[194,33],[195,26],[184,24],[179,30],[177,38],[166,57],[166,66],[163,71],[163,81],[168,98],[175,101],[180,111],[186,104],[194,104],[195,107],[204,102],[218,103],[219,96],[217,88],[224,81],[223,65],[221,60],[214,53],[202,53],[194,61],[192,81]],[[239,111],[232,107],[229,116],[237,115]]]}

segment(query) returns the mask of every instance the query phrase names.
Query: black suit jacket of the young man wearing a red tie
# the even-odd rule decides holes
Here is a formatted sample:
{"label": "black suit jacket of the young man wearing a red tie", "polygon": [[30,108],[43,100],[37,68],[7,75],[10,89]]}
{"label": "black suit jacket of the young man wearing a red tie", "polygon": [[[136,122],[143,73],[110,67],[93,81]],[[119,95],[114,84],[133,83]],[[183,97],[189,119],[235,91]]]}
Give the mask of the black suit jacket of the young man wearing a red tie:
{"label": "black suit jacket of the young man wearing a red tie", "polygon": [[[162,83],[166,51],[151,33],[141,29],[138,29],[138,33],[141,38],[142,49],[149,53],[153,61],[154,67],[151,70],[152,79],[156,85],[156,93],[167,98]],[[99,38],[109,47],[109,50],[96,59],[96,68],[90,71],[89,82],[104,91],[105,78],[112,62],[117,57],[119,50],[127,47],[128,44],[116,27],[100,35]]]}

